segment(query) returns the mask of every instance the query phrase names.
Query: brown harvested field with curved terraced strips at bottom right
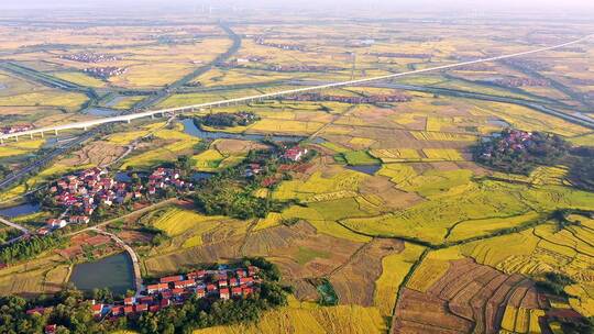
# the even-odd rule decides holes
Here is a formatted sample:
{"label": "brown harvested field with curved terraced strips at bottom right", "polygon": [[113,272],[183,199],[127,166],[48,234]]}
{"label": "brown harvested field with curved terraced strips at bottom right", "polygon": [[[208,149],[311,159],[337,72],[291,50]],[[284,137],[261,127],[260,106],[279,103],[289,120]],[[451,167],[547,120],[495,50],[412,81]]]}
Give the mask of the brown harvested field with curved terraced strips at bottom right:
{"label": "brown harvested field with curved terraced strips at bottom right", "polygon": [[[530,319],[525,315],[539,310],[531,281],[466,258],[449,263],[447,271],[425,292],[404,290],[394,319],[398,330],[394,333],[408,333],[419,324],[430,330],[462,333],[498,333],[502,327],[522,330],[518,333],[528,331]],[[415,272],[414,277],[422,275]],[[421,312],[419,304],[426,312]],[[526,310],[526,314],[516,322],[516,313],[512,316],[510,310],[519,308]]]}

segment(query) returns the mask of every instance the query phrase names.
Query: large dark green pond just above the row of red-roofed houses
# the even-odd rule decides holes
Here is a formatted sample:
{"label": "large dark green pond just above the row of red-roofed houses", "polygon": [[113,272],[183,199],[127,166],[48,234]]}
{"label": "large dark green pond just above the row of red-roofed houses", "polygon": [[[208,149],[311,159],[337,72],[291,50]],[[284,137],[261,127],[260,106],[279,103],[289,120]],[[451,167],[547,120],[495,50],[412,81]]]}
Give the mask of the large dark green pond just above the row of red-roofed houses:
{"label": "large dark green pond just above the row of red-roofed houses", "polygon": [[127,290],[134,289],[132,260],[127,253],[120,253],[76,265],[69,282],[79,290],[109,288],[113,293],[123,294]]}

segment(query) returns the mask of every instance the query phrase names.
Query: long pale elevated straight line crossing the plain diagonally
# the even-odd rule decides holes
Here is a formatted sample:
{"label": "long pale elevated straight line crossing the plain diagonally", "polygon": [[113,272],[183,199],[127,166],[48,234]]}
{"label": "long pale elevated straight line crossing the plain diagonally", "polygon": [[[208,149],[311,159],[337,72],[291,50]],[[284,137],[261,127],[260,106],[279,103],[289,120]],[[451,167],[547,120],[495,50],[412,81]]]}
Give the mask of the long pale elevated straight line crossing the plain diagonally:
{"label": "long pale elevated straight line crossing the plain diagonally", "polygon": [[551,51],[556,48],[565,47],[569,45],[582,43],[590,37],[594,35],[588,35],[575,41],[571,41],[568,43],[549,46],[549,47],[540,47],[537,49],[515,53],[510,55],[503,55],[503,56],[496,56],[496,57],[488,57],[483,59],[476,59],[476,60],[470,60],[470,62],[462,62],[457,64],[450,64],[450,65],[442,65],[437,67],[429,67],[424,69],[416,69],[399,74],[393,74],[393,75],[385,75],[380,77],[373,77],[373,78],[364,78],[364,79],[358,79],[358,80],[350,80],[350,81],[342,81],[342,82],[334,82],[334,84],[327,84],[327,85],[320,85],[320,86],[314,86],[314,87],[305,87],[305,88],[298,88],[298,89],[289,89],[289,90],[283,90],[272,93],[264,93],[264,94],[257,94],[257,96],[249,96],[243,98],[235,98],[235,99],[229,99],[229,100],[221,100],[221,101],[215,101],[215,102],[208,102],[208,103],[200,103],[200,104],[193,104],[193,105],[185,105],[185,107],[178,107],[178,108],[168,108],[168,109],[161,109],[161,110],[153,110],[153,111],[145,111],[145,112],[139,112],[134,114],[127,114],[127,115],[119,115],[119,116],[112,116],[112,118],[105,118],[99,120],[92,120],[92,121],[86,121],[86,122],[78,122],[78,123],[69,123],[69,124],[62,124],[62,125],[55,125],[55,126],[47,126],[47,127],[41,127],[41,129],[34,129],[30,131],[23,131],[12,134],[3,134],[0,135],[0,142],[18,137],[18,136],[24,136],[24,135],[34,135],[40,134],[44,132],[52,132],[52,131],[63,131],[63,130],[69,130],[69,129],[88,129],[90,126],[99,125],[99,124],[106,124],[106,123],[114,123],[114,122],[128,122],[130,123],[132,120],[135,119],[142,119],[142,118],[152,118],[157,114],[166,114],[166,113],[183,113],[183,112],[190,112],[195,111],[196,109],[207,109],[207,108],[216,108],[216,107],[227,107],[230,104],[237,104],[237,103],[244,103],[244,102],[251,102],[251,101],[257,101],[257,100],[264,100],[264,99],[271,99],[287,94],[298,94],[304,92],[310,92],[316,90],[322,90],[328,88],[336,88],[336,87],[344,87],[344,86],[356,86],[361,84],[367,84],[372,81],[380,81],[380,80],[386,80],[386,79],[393,79],[397,77],[404,77],[409,75],[416,75],[416,74],[424,74],[424,73],[430,73],[430,71],[437,71],[437,70],[443,70],[449,68],[455,68],[460,66],[468,66],[473,64],[480,64],[480,63],[488,63],[488,62],[495,62],[495,60],[502,60],[502,59],[508,59],[508,58],[515,58],[515,57],[521,57],[526,55],[531,55],[536,53],[542,53],[546,51]]}

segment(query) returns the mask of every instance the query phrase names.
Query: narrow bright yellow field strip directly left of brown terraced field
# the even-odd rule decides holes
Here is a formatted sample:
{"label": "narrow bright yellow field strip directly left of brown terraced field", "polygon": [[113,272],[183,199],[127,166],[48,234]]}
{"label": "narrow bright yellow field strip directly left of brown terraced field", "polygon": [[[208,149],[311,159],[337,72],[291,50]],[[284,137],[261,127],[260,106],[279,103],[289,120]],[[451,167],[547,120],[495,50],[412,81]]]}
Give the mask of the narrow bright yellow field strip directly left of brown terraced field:
{"label": "narrow bright yellow field strip directly left of brown terraced field", "polygon": [[382,259],[382,276],[375,281],[374,304],[380,308],[384,315],[391,315],[396,302],[396,293],[400,285],[418,260],[425,247],[405,244],[403,252],[392,254]]}

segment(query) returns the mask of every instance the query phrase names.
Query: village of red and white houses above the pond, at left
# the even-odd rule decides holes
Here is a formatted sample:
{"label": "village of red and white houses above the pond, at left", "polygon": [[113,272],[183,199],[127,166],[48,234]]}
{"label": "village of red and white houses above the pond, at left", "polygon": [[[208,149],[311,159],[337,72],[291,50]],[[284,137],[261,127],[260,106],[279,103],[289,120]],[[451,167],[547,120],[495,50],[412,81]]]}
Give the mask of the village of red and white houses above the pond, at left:
{"label": "village of red and white houses above the pond, at left", "polygon": [[44,235],[68,224],[86,224],[95,210],[105,204],[123,204],[139,200],[143,194],[155,194],[160,189],[175,187],[178,190],[193,189],[191,182],[179,177],[179,171],[170,168],[157,168],[148,176],[147,187],[140,183],[118,181],[110,177],[107,169],[90,168],[77,175],[68,175],[50,188],[55,202],[67,209],[69,216],[47,220],[46,227],[37,231]]}

